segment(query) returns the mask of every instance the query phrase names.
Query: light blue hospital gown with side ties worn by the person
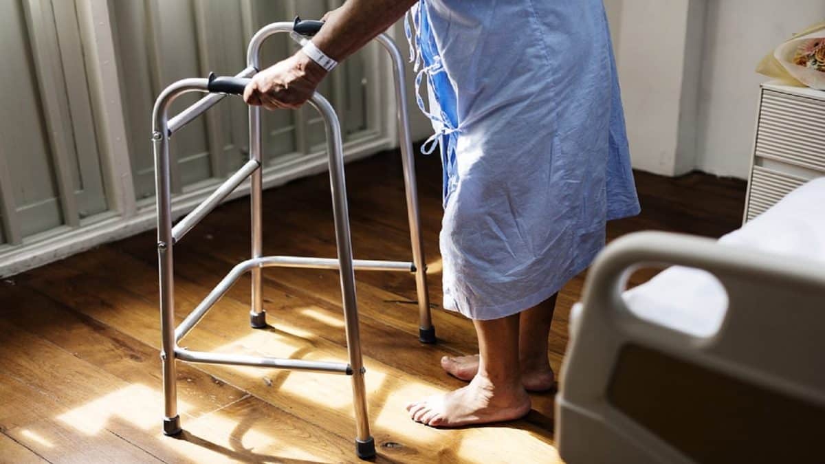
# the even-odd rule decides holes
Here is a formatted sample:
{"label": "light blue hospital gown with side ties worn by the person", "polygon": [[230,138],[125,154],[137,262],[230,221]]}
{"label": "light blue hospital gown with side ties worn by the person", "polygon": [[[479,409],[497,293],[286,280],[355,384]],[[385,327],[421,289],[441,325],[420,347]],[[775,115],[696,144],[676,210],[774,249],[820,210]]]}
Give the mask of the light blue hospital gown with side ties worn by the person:
{"label": "light blue hospital gown with side ties worn by the person", "polygon": [[444,307],[526,310],[639,214],[604,5],[421,0],[408,37],[444,168]]}

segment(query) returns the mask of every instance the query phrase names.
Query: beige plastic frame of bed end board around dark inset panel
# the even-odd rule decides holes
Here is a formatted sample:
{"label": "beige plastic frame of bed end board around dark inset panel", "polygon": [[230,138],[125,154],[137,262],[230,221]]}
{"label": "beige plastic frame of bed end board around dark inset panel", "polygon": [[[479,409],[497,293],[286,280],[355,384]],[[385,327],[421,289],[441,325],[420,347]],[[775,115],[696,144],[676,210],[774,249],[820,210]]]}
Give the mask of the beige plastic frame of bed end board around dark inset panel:
{"label": "beige plastic frame of bed end board around dark inset panel", "polygon": [[[638,268],[670,265],[704,269],[722,283],[729,303],[719,332],[695,337],[630,312],[622,298],[630,274]],[[567,462],[692,462],[611,407],[611,377],[620,351],[629,345],[825,410],[825,265],[821,262],[681,234],[630,234],[615,240],[596,259],[585,284],[577,327],[556,401],[556,438]]]}

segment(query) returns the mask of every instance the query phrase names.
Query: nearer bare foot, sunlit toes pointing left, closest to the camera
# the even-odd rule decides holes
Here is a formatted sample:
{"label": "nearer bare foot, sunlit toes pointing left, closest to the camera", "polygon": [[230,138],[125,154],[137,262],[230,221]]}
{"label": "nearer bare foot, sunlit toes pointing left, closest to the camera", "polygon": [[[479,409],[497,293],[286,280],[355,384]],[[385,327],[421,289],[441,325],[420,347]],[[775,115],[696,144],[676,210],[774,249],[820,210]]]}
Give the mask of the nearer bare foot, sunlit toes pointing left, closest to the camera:
{"label": "nearer bare foot, sunlit toes pointing left, closest to the camera", "polygon": [[410,417],[430,427],[461,427],[521,419],[530,412],[530,396],[522,388],[493,386],[476,376],[468,386],[407,405]]}

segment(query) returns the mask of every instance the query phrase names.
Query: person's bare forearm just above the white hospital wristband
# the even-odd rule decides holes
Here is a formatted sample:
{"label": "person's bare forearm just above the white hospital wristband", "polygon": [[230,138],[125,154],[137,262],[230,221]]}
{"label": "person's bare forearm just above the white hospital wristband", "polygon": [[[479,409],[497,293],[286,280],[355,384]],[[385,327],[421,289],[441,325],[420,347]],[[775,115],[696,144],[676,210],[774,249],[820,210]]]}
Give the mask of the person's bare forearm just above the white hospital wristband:
{"label": "person's bare forearm just above the white hospital wristband", "polygon": [[403,17],[417,0],[347,0],[313,38],[323,53],[337,61],[361,49]]}

